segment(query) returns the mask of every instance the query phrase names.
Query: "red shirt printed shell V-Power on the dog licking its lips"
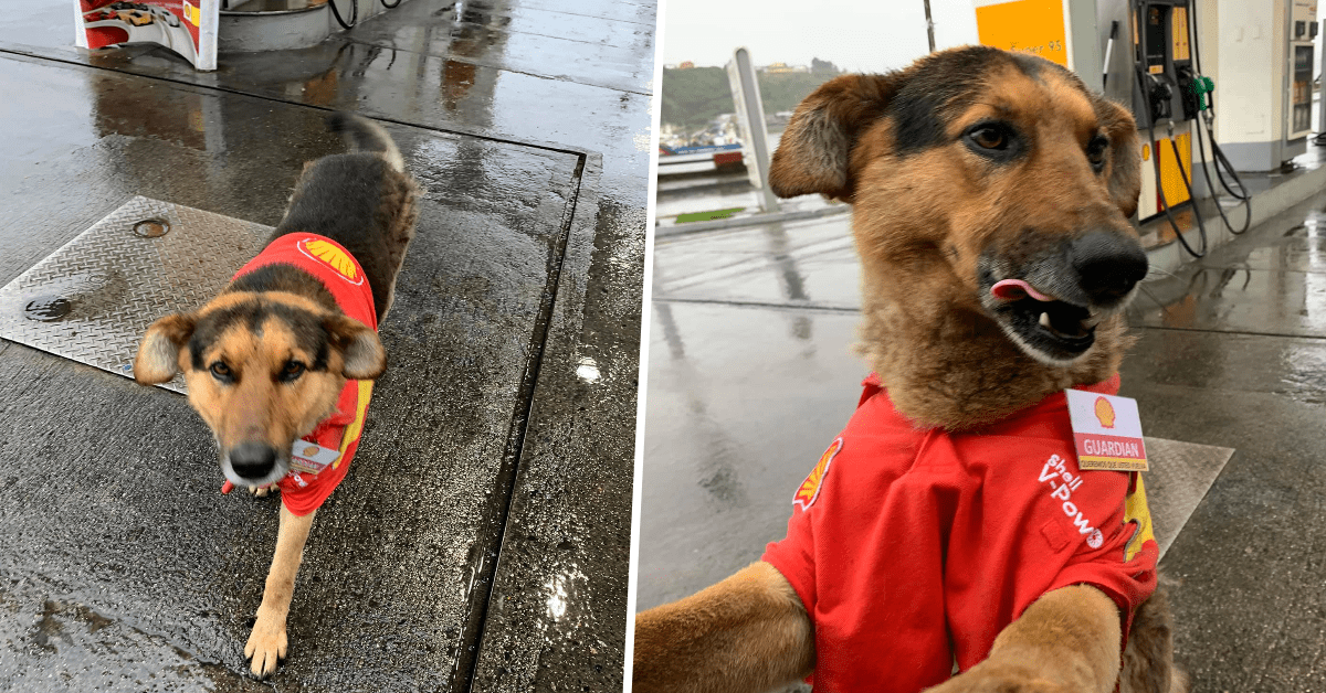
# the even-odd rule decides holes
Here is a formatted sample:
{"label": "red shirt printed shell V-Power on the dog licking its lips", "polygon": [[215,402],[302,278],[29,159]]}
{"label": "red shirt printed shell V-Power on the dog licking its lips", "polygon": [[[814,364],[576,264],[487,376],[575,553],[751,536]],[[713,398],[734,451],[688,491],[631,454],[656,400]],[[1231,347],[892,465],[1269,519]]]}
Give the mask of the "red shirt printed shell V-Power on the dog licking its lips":
{"label": "red shirt printed shell V-Power on the dog licking its lips", "polygon": [[[879,380],[765,549],[815,633],[815,693],[916,693],[984,660],[1037,598],[1090,584],[1132,611],[1156,586],[1146,489],[1079,472],[1062,392],[979,431],[919,429]],[[1094,387],[1115,394],[1119,379]]]}

